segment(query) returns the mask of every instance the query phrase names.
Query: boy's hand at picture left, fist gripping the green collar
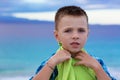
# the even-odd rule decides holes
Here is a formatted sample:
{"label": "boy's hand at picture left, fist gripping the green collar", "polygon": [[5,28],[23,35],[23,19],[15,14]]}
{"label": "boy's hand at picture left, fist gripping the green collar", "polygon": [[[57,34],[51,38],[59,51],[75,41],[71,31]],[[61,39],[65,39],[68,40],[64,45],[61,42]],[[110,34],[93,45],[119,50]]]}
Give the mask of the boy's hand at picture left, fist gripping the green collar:
{"label": "boy's hand at picture left, fist gripping the green collar", "polygon": [[67,50],[59,50],[49,59],[49,63],[55,67],[57,64],[62,63],[71,58],[71,54]]}

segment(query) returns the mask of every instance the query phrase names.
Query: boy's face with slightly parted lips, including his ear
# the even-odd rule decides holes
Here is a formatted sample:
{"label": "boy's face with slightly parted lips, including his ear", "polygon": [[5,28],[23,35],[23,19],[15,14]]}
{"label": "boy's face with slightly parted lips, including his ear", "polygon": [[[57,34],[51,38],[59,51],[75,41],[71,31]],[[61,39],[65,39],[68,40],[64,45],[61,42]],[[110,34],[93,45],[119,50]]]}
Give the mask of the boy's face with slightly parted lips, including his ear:
{"label": "boy's face with slightly parted lips, including his ear", "polygon": [[54,34],[64,49],[77,53],[83,48],[89,32],[85,16],[64,16],[57,27]]}

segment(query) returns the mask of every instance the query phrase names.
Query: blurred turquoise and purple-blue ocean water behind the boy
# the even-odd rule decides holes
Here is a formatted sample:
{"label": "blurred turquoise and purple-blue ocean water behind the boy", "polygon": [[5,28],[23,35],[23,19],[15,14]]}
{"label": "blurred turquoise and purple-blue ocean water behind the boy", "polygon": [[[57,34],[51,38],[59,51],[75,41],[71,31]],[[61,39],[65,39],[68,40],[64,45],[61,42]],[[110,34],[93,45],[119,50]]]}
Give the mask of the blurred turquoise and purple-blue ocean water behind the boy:
{"label": "blurred turquoise and purple-blue ocean water behind the boy", "polygon": [[[58,44],[53,23],[0,23],[0,80],[28,80]],[[120,25],[90,25],[85,49],[120,80]]]}

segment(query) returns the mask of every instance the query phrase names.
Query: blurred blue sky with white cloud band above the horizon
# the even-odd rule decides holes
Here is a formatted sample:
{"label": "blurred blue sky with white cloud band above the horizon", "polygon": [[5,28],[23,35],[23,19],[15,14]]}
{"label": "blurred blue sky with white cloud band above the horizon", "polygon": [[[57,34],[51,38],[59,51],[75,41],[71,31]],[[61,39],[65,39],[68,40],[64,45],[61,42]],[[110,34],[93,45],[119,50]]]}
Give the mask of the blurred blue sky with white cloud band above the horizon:
{"label": "blurred blue sky with white cloud band above the horizon", "polygon": [[119,4],[120,0],[0,0],[0,16],[53,21],[58,8],[77,5],[86,10],[91,24],[120,24]]}

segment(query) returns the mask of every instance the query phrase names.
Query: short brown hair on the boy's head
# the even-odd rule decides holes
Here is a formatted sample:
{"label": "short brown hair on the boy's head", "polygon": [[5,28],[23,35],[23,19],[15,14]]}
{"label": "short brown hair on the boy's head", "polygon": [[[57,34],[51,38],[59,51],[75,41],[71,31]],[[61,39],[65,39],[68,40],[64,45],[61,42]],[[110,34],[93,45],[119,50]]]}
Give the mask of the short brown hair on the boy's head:
{"label": "short brown hair on the boy's head", "polygon": [[88,16],[82,8],[80,8],[78,6],[64,6],[60,9],[58,9],[58,11],[55,15],[55,30],[57,30],[58,22],[65,15],[86,16],[86,19],[87,19],[87,22],[88,22]]}

